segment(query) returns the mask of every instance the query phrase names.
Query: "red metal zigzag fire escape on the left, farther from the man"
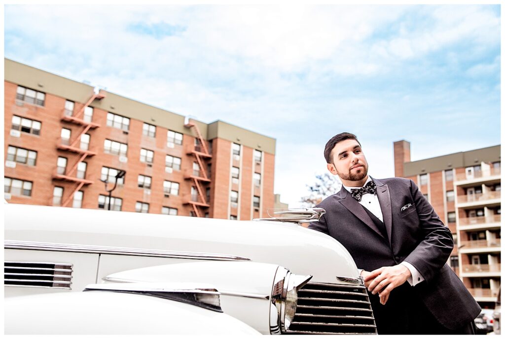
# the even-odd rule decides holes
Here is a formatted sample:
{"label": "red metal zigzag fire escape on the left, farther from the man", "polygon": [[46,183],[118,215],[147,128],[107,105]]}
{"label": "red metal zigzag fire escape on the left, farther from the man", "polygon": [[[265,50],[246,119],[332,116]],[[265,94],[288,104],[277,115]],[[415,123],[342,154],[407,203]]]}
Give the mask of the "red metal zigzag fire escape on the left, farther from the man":
{"label": "red metal zigzag fire escape on the left, farther from the man", "polygon": [[79,166],[79,163],[83,162],[84,159],[86,159],[86,157],[92,157],[96,155],[96,152],[94,150],[90,150],[89,145],[86,147],[86,149],[83,149],[81,148],[80,144],[78,145],[78,143],[80,143],[83,134],[86,134],[90,129],[100,127],[100,125],[95,122],[86,121],[84,118],[84,110],[93,102],[93,100],[102,100],[105,97],[105,91],[93,91],[93,95],[76,114],[72,114],[73,112],[69,112],[66,109],[63,111],[61,120],[79,125],[82,127],[82,130],[72,141],[63,140],[61,137],[58,139],[57,148],[59,150],[76,153],[80,156],[75,164],[70,168],[70,170],[65,170],[64,173],[59,173],[57,168],[53,174],[54,179],[76,183],[75,189],[63,200],[61,205],[62,207],[68,206],[70,200],[72,200],[74,197],[75,192],[80,190],[82,186],[92,184],[94,182],[92,180],[87,180],[84,177],[80,178],[77,172],[77,167]]}

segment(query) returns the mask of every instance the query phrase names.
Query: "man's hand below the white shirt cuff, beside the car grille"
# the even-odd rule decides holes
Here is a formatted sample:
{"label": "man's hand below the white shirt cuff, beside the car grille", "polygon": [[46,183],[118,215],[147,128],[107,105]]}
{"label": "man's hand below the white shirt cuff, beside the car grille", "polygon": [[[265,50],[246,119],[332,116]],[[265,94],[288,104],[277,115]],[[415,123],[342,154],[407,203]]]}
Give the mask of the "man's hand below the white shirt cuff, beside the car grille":
{"label": "man's hand below the white shirt cuff, beside the car grille", "polygon": [[402,285],[411,276],[409,268],[404,265],[384,266],[374,269],[370,274],[364,276],[365,286],[368,282],[368,290],[372,294],[379,293],[380,303],[385,305],[389,298],[389,293],[396,287]]}

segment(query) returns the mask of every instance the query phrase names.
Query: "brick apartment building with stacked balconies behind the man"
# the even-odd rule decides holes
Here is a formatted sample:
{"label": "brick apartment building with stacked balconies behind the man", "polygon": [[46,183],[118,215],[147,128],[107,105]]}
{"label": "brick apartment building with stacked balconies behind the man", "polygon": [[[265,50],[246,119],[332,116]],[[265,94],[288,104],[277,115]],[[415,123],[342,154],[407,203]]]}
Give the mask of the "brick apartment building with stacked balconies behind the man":
{"label": "brick apartment building with stacked balconies behind the man", "polygon": [[[394,174],[412,179],[449,227],[448,264],[482,307],[500,287],[500,145],[410,161],[410,143],[393,143]],[[456,246],[457,245],[457,246]]]}

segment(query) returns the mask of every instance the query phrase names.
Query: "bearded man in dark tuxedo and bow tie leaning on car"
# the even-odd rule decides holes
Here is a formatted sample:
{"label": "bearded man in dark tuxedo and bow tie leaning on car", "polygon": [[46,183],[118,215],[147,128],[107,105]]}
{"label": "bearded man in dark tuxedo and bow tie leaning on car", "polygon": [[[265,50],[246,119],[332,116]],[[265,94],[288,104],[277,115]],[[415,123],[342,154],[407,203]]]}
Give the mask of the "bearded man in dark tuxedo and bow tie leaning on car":
{"label": "bearded man in dark tuxedo and bow tie leaning on car", "polygon": [[452,235],[416,184],[371,178],[351,133],[331,138],[324,156],[342,188],[317,206],[326,214],[309,228],[355,259],[378,334],[475,334],[480,307],[446,264]]}

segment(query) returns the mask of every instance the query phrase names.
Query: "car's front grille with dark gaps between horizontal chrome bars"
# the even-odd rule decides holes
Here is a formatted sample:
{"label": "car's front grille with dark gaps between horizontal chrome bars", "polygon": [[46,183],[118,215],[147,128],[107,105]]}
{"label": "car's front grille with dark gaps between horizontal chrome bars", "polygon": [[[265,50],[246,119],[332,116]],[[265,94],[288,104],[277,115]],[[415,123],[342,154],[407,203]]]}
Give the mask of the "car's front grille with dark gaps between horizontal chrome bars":
{"label": "car's front grille with dark gaps between horizontal chrome bars", "polygon": [[307,283],[287,333],[377,334],[365,286]]}

